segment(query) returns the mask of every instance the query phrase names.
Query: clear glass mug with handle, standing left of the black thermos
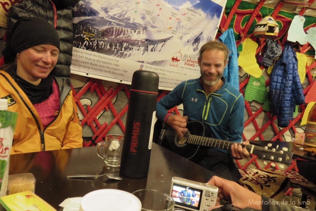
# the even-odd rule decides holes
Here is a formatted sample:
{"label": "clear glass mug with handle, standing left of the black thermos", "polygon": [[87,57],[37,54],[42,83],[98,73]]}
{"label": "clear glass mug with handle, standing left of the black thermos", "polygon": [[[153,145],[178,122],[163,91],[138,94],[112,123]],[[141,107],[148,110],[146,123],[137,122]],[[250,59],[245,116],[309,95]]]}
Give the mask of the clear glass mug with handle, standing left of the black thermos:
{"label": "clear glass mug with handle, standing left of the black thermos", "polygon": [[[106,141],[99,142],[96,146],[97,155],[102,158],[106,165],[119,167],[123,149],[123,135],[106,135]],[[104,154],[100,153],[100,146],[104,145]]]}

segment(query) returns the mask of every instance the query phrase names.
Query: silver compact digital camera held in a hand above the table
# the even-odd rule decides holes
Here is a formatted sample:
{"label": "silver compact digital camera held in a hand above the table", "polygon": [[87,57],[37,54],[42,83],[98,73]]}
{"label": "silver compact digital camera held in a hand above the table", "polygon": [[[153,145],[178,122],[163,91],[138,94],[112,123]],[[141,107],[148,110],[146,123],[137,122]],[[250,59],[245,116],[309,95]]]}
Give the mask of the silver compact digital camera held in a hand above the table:
{"label": "silver compact digital camera held in a hand above the table", "polygon": [[208,183],[172,177],[170,195],[175,206],[187,210],[208,211],[216,204],[218,188]]}

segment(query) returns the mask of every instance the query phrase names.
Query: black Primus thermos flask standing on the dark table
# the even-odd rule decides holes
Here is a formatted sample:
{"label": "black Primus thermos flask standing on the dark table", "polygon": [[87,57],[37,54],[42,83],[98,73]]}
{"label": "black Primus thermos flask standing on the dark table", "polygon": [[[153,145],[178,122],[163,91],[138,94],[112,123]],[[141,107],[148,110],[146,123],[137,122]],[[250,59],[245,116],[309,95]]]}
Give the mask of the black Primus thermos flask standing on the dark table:
{"label": "black Primus thermos flask standing on the dark table", "polygon": [[158,85],[159,76],[155,72],[137,70],[133,73],[120,175],[133,178],[148,175]]}

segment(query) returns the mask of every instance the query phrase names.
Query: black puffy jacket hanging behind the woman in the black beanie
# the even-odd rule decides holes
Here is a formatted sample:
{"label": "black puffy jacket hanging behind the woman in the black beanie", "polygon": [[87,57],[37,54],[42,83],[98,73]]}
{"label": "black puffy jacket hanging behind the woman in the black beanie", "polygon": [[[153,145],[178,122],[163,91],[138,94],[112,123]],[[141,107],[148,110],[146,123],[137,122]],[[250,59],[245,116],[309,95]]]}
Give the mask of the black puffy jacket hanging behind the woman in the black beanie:
{"label": "black puffy jacket hanging behind the woman in the black beanie", "polygon": [[[71,6],[79,0],[23,0],[8,11],[8,28],[24,17],[39,17],[55,26],[60,39],[60,53],[54,76],[70,77],[73,47],[73,24]],[[21,34],[21,36],[23,36]]]}

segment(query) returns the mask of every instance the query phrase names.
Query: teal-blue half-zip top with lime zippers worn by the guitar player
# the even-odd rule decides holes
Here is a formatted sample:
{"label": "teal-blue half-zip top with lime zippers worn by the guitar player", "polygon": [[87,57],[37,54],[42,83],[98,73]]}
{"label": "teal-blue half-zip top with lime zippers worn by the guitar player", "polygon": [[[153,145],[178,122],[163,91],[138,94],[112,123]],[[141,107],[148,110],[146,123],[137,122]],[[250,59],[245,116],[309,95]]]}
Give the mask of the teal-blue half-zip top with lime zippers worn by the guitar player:
{"label": "teal-blue half-zip top with lime zippers worn by the guitar player", "polygon": [[206,96],[201,78],[183,81],[157,102],[156,116],[166,123],[167,110],[183,104],[189,121],[201,121],[211,138],[240,142],[244,126],[244,97],[228,84]]}

